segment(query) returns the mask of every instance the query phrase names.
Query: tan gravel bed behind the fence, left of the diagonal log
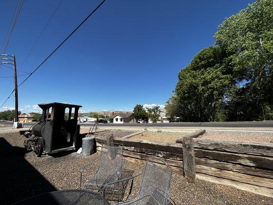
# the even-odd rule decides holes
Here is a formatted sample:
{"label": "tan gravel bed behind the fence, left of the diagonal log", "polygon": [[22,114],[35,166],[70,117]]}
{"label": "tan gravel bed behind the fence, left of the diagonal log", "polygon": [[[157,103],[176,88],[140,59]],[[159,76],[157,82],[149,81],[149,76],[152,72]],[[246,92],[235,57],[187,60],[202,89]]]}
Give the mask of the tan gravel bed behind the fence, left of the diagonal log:
{"label": "tan gravel bed behind the fence, left of the diagonal log", "polygon": [[162,141],[162,142],[173,142],[177,139],[182,138],[187,133],[182,132],[143,132],[139,135],[135,135],[130,137],[130,139],[142,139],[142,140],[150,140],[150,141]]}

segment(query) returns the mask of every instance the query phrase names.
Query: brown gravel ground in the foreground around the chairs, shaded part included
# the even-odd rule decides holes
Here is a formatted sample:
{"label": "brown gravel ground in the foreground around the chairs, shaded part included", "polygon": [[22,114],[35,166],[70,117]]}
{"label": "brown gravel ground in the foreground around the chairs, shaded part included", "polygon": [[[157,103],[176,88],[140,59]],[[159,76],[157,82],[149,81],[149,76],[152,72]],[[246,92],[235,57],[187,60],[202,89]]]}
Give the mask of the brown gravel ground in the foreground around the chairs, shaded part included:
{"label": "brown gravel ground in the foreground around the chairs, shaded part included", "polygon": [[[79,188],[79,169],[98,156],[98,153],[81,157],[77,153],[44,156],[37,158],[32,152],[25,152],[24,137],[18,133],[0,134],[0,169],[1,197],[0,204],[11,204],[37,194],[64,189]],[[86,175],[95,173],[94,167]],[[141,173],[144,162],[126,161],[125,169],[134,170],[134,175]],[[85,178],[83,179],[85,181]],[[138,193],[141,177],[134,180],[130,198]],[[203,180],[188,183],[182,176],[173,174],[171,197],[180,204],[273,204],[273,198],[251,194],[230,187],[216,185]]]}

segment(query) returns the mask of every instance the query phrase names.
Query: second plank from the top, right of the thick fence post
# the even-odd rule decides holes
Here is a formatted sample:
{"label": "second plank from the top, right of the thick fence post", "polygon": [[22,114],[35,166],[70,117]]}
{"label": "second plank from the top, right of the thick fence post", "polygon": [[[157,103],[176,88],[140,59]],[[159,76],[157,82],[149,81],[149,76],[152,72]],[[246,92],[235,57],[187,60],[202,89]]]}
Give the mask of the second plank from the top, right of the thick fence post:
{"label": "second plank from the top, right of the thick fence post", "polygon": [[194,149],[196,157],[214,159],[218,161],[230,162],[249,167],[257,167],[273,170],[273,158],[245,154],[235,154],[218,152],[211,150]]}

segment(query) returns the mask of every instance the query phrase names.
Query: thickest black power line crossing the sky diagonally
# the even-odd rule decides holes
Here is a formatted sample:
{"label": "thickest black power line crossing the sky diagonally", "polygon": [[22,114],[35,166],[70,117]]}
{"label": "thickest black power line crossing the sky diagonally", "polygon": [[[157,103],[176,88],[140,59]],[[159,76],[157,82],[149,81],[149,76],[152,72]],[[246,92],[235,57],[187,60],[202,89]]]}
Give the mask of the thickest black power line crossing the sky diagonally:
{"label": "thickest black power line crossing the sky diagonally", "polygon": [[[25,81],[27,81],[27,79],[34,73],[36,72],[80,27],[82,24],[84,24],[87,19],[93,14],[95,13],[98,8],[105,2],[106,0],[103,0],[85,19],[83,19],[83,21],[60,43],[59,46],[57,46],[57,48],[54,49],[54,51],[51,52],[51,54],[39,65],[37,66],[37,68],[35,68],[23,81],[22,83],[20,83],[18,85],[21,86],[22,84],[25,83]],[[10,93],[10,95],[8,96],[8,98],[4,101],[4,103],[0,106],[0,108],[6,103],[6,101],[10,98],[10,96],[12,95],[12,93],[14,92],[15,89],[13,89],[13,91]]]}

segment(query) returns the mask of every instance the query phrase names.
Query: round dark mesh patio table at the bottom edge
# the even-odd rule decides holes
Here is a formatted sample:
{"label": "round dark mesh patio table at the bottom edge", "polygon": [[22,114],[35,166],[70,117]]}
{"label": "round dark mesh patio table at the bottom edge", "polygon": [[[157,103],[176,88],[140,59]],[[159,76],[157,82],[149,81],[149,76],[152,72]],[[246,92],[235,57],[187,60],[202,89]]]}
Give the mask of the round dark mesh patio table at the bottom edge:
{"label": "round dark mesh patio table at the bottom edge", "polygon": [[13,205],[110,205],[101,195],[87,190],[61,190],[37,195]]}

